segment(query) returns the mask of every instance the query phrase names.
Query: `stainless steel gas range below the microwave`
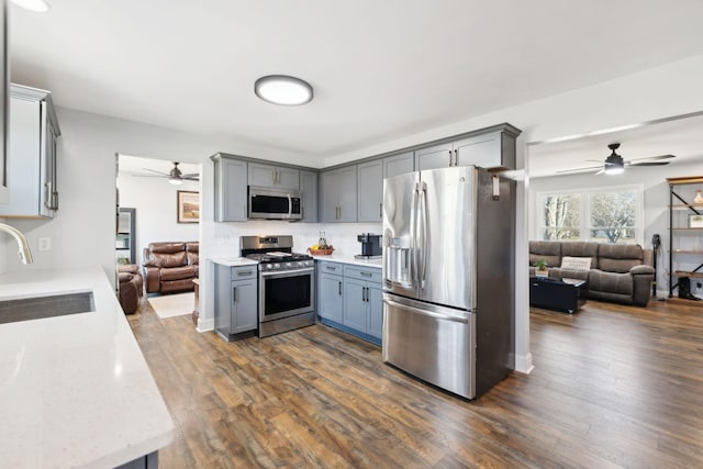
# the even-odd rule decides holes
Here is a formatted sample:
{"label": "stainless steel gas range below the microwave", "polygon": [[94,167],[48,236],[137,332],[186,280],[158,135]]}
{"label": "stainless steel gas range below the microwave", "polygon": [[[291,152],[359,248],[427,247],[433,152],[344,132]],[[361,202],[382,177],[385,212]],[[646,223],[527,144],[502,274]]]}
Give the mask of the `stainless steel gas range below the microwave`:
{"label": "stainless steel gas range below the microwave", "polygon": [[315,266],[292,252],[292,236],[242,236],[242,256],[258,261],[259,337],[315,323]]}

